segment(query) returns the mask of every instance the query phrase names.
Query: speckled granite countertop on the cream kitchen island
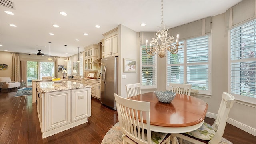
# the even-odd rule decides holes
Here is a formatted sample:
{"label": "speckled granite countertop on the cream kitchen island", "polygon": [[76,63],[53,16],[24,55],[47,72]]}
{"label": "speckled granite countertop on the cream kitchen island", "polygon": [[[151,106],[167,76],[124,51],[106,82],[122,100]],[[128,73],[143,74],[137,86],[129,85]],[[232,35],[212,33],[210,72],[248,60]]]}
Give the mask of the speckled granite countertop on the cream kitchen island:
{"label": "speckled granite countertop on the cream kitchen island", "polygon": [[79,88],[90,88],[92,86],[80,84],[78,82],[62,81],[62,82],[37,82],[40,92],[56,92],[61,90],[72,90]]}

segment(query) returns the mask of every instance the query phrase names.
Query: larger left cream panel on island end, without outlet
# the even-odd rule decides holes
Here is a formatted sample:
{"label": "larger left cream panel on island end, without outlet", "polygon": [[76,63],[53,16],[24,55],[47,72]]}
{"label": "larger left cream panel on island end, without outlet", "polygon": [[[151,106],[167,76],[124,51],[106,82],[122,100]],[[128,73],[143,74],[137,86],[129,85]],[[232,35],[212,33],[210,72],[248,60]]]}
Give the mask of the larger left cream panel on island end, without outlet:
{"label": "larger left cream panel on island end, without outlet", "polygon": [[70,90],[46,93],[45,130],[70,123]]}

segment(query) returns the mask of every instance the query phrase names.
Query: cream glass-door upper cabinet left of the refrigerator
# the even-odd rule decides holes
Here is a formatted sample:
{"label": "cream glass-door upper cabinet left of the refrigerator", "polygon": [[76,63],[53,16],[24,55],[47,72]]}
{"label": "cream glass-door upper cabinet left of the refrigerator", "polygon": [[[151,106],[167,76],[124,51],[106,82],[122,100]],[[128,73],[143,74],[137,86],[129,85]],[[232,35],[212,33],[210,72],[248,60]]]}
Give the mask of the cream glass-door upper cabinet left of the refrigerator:
{"label": "cream glass-door upper cabinet left of the refrigerator", "polygon": [[98,44],[91,44],[84,47],[84,70],[98,71],[99,64],[94,63],[94,60],[97,60],[98,57]]}

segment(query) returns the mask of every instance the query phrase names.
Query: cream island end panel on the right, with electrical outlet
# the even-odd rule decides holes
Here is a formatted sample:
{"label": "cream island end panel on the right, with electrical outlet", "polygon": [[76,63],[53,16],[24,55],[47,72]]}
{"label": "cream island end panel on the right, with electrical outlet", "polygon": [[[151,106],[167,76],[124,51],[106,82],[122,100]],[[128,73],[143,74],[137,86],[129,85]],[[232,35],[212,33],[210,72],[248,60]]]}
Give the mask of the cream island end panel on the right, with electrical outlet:
{"label": "cream island end panel on the right, with electrical outlet", "polygon": [[90,89],[72,90],[71,94],[71,122],[87,118],[91,115]]}

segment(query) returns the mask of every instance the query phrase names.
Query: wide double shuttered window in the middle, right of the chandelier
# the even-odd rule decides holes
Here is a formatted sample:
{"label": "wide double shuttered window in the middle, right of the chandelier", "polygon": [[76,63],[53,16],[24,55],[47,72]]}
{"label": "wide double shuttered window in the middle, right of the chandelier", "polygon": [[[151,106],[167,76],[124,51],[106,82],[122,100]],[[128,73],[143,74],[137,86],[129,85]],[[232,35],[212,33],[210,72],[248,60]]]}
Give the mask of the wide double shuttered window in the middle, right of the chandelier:
{"label": "wide double shuttered window in the middle, right of the chandelier", "polygon": [[181,41],[177,54],[167,52],[166,89],[169,83],[192,84],[200,94],[211,94],[210,36]]}

